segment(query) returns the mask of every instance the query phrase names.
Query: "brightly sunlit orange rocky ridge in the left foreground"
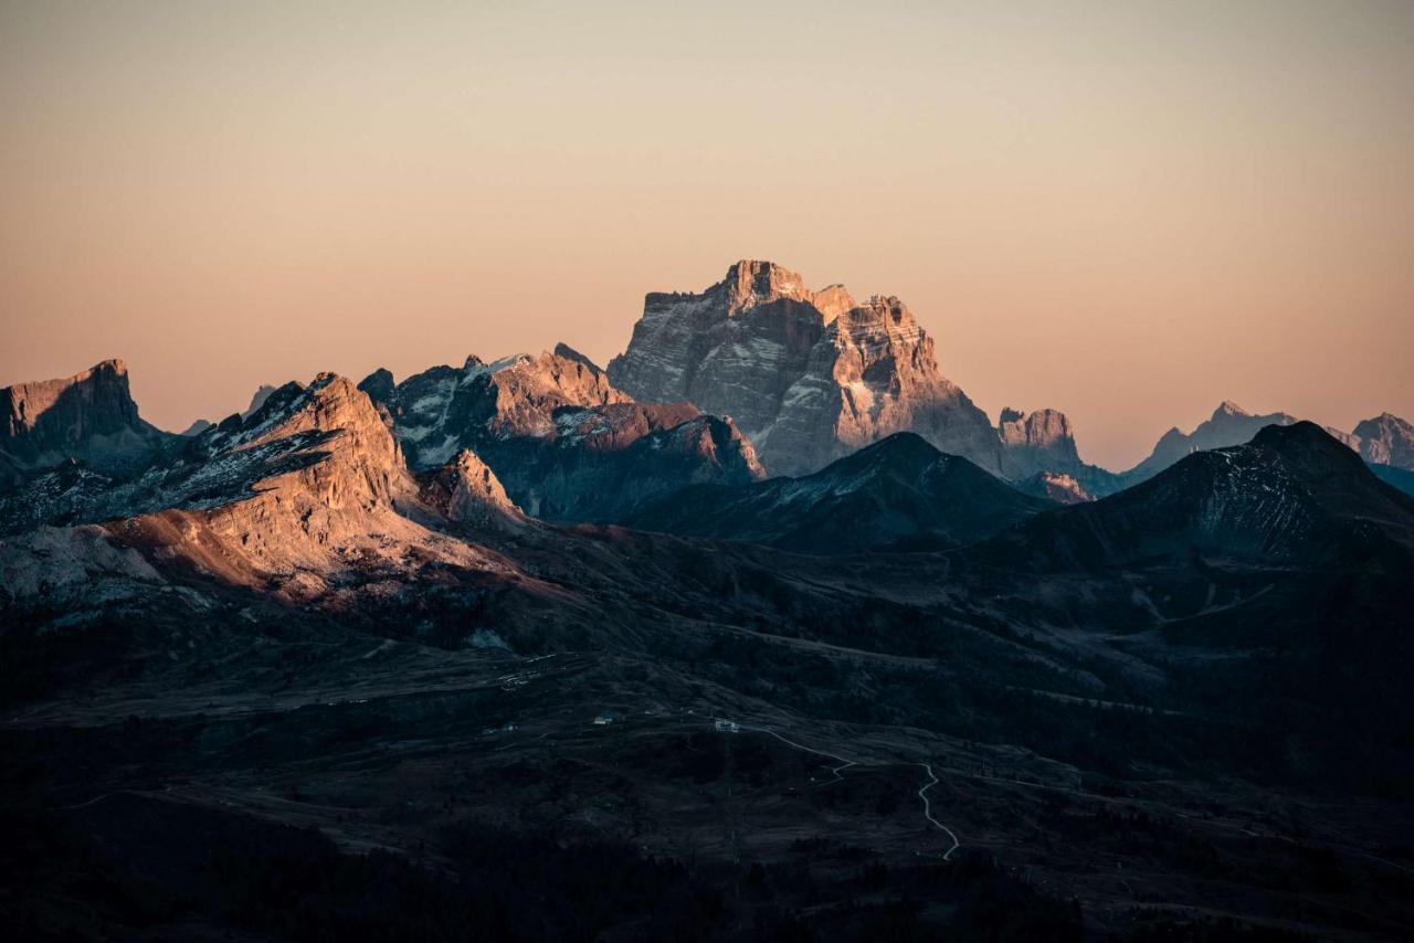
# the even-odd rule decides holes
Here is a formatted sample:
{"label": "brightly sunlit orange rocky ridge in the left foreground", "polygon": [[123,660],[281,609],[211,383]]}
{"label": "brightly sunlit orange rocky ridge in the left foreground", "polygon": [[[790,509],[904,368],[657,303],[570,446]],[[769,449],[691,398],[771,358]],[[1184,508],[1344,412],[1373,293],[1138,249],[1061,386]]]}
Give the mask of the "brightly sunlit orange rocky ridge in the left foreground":
{"label": "brightly sunlit orange rocky ridge in the left foreground", "polygon": [[[475,498],[474,468],[455,474],[454,499],[430,506],[369,397],[321,373],[273,390],[255,413],[185,440],[129,481],[57,469],[25,500],[0,502],[0,526],[102,522],[116,546],[156,564],[311,598],[351,580],[395,578],[417,561],[485,566],[478,547],[433,529]],[[41,486],[47,503],[35,500]]]}

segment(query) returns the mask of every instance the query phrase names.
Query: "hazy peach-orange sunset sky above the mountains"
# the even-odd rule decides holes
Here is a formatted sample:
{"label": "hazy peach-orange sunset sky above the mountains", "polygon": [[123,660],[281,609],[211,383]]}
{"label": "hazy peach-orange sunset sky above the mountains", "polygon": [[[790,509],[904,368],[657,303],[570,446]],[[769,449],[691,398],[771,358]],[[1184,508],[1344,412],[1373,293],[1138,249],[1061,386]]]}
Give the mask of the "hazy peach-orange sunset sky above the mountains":
{"label": "hazy peach-orange sunset sky above the mountains", "polygon": [[1109,465],[1414,418],[1414,3],[673,6],[0,0],[0,385],[607,361],[758,257]]}

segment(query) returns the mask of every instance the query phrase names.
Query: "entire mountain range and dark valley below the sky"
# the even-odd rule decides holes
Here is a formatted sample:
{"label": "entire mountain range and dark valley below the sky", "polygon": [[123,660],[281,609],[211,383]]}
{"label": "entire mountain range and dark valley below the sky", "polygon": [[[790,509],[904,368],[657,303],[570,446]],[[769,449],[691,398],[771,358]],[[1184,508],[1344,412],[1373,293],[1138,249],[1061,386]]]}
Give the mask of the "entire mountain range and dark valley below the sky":
{"label": "entire mountain range and dark valley below the sky", "polygon": [[[177,435],[6,389],[28,939],[1398,939],[1414,430],[1126,472],[771,263]],[[1401,488],[1404,491],[1401,491]],[[475,930],[475,933],[472,933]]]}

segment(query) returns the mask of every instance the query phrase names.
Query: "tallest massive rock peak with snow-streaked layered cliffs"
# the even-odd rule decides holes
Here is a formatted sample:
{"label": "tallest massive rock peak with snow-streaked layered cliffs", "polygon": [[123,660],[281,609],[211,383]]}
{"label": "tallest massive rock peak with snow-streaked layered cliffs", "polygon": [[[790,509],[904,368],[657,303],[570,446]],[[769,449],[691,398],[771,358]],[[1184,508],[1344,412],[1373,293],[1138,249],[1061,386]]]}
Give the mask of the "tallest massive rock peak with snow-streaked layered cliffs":
{"label": "tallest massive rock peak with snow-streaked layered cliffs", "polygon": [[776,474],[814,471],[901,430],[1000,471],[995,430],[939,373],[902,301],[812,291],[769,262],[738,262],[700,294],[649,294],[608,369],[635,399],[732,417]]}

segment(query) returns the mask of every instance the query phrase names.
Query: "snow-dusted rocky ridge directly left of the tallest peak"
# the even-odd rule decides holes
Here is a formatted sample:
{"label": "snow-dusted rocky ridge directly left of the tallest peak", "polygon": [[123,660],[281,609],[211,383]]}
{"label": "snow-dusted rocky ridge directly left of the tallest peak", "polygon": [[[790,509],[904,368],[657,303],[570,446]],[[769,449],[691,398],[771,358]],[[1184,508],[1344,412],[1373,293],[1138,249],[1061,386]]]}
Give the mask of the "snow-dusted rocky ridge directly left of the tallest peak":
{"label": "snow-dusted rocky ridge directly left of the tallest peak", "polygon": [[563,344],[537,358],[472,356],[396,385],[379,370],[359,386],[414,468],[469,450],[515,505],[549,520],[618,520],[689,484],[765,476],[732,423],[690,403],[636,403]]}

